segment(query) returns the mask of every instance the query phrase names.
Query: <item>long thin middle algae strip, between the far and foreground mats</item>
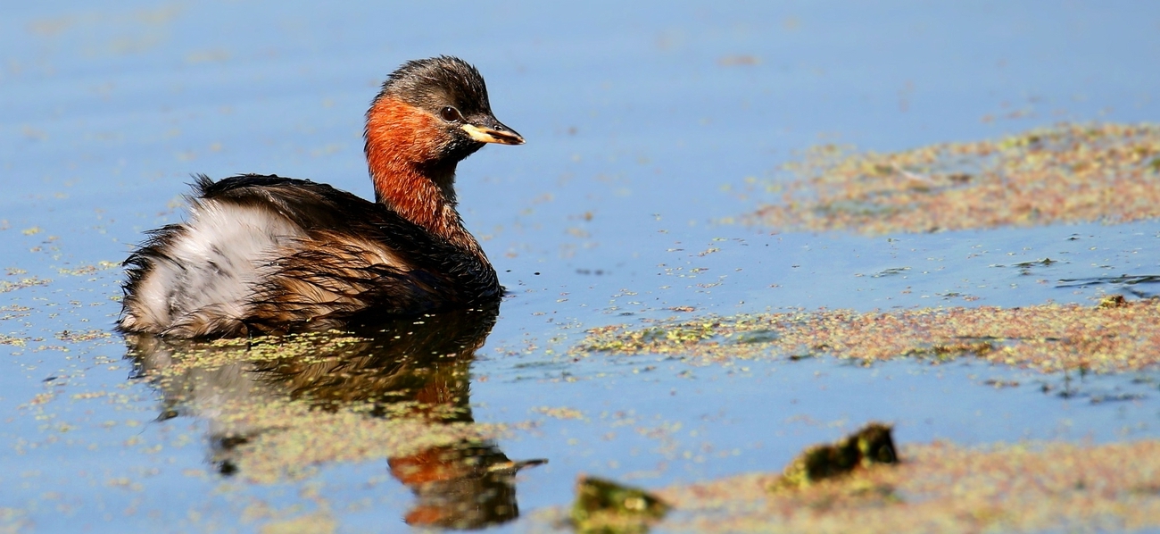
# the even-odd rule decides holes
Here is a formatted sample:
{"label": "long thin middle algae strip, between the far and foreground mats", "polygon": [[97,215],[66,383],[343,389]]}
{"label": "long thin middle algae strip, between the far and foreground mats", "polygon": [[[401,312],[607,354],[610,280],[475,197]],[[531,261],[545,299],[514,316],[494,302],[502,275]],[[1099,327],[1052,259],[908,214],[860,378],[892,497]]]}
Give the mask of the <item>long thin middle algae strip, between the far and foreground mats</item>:
{"label": "long thin middle algae strip, between the far and foreground mats", "polygon": [[588,331],[574,354],[672,354],[690,361],[834,355],[872,362],[974,356],[1042,371],[1137,370],[1160,362],[1160,301],[1109,297],[1096,306],[850,310],[665,320]]}

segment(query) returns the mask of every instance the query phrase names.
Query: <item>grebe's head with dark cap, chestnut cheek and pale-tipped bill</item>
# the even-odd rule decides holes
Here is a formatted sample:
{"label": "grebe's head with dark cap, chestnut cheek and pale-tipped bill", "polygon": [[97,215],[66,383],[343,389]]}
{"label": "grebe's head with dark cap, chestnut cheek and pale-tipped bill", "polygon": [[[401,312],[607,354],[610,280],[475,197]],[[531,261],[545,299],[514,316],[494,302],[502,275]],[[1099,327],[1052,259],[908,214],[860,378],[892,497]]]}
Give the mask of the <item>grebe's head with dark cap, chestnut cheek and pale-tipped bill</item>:
{"label": "grebe's head with dark cap, chestnut cheek and pale-tipped bill", "polygon": [[367,111],[365,137],[369,159],[415,165],[454,165],[485,143],[523,144],[492,114],[479,71],[448,56],[407,62],[391,73]]}

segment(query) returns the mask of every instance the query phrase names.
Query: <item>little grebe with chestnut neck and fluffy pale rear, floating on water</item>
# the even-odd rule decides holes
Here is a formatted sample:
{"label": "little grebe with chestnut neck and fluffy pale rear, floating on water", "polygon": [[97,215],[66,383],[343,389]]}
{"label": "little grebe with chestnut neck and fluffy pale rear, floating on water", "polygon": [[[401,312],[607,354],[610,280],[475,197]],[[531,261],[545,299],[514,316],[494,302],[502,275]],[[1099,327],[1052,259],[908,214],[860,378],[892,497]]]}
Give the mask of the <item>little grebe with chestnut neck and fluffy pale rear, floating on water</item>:
{"label": "little grebe with chestnut neck and fluffy pale rear, floating on water", "polygon": [[197,175],[188,221],[125,260],[119,327],[179,338],[342,327],[494,302],[495,269],[455,210],[455,167],[523,137],[454,57],[408,62],[367,111],[377,202],[309,180]]}

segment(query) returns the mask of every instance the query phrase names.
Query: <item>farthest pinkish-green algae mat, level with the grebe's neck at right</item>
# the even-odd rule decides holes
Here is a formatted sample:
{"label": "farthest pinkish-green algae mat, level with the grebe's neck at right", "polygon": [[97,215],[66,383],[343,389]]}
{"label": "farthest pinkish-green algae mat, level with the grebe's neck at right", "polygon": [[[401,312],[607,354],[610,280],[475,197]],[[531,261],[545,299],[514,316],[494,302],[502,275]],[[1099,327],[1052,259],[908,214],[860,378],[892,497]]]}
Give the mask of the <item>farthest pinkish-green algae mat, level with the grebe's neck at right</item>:
{"label": "farthest pinkish-green algae mat, level with the grebe's neck at right", "polygon": [[1059,124],[894,153],[834,145],[788,164],[751,222],[880,234],[1160,216],[1160,125]]}

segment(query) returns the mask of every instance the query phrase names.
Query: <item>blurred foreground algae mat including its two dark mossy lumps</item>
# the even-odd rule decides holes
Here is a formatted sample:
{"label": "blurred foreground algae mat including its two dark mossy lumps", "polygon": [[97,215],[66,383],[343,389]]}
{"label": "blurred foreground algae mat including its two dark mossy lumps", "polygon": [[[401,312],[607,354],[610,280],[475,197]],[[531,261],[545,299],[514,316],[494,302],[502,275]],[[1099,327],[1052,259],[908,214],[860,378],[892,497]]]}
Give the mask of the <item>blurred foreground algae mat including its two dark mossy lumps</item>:
{"label": "blurred foreground algae mat including its two dark mossy lumps", "polygon": [[[806,448],[778,475],[749,472],[653,492],[582,478],[577,532],[1044,532],[1160,526],[1160,441],[962,447],[904,443],[871,423]],[[848,456],[807,475],[821,456]],[[841,463],[842,466],[838,466]],[[820,472],[826,471],[826,472]],[[640,500],[628,513],[622,501]],[[567,524],[564,511],[537,514]],[[603,515],[601,515],[603,514]],[[588,522],[592,517],[600,521]]]}

